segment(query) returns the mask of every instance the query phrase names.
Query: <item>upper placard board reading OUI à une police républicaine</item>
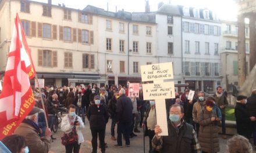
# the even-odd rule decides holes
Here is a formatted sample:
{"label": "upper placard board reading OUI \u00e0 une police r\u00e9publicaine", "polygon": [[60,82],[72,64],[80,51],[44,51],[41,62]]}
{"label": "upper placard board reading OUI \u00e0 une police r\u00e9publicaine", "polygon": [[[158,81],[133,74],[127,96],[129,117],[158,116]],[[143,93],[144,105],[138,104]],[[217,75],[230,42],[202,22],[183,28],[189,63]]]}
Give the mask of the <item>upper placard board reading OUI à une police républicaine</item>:
{"label": "upper placard board reading OUI \u00e0 une police r\u00e9publicaine", "polygon": [[163,79],[173,79],[172,62],[141,65],[142,81],[155,81]]}

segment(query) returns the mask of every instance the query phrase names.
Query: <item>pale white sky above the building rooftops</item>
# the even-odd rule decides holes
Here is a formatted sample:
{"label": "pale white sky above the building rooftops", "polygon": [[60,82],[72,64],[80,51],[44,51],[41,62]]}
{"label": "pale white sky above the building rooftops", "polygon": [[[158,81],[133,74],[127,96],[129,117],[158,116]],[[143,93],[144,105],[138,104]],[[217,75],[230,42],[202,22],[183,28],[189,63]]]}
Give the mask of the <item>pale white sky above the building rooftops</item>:
{"label": "pale white sky above the building rooftops", "polygon": [[[47,3],[48,0],[32,0]],[[156,11],[159,2],[183,5],[214,11],[219,19],[234,21],[237,16],[237,6],[234,0],[149,0],[150,10]],[[111,12],[124,9],[127,12],[144,12],[145,0],[52,0],[52,4],[64,3],[67,8],[84,9],[87,5],[93,5]],[[108,5],[107,5],[108,4]],[[107,7],[108,6],[108,7]]]}

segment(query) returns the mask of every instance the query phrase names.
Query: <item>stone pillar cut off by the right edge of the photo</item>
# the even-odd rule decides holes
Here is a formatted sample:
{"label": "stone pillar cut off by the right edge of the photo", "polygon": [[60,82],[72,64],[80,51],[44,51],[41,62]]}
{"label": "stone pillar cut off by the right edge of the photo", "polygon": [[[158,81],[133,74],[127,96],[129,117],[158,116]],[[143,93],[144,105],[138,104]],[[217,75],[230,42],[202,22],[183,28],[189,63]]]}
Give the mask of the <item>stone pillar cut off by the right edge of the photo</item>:
{"label": "stone pillar cut off by the right edge of the photo", "polygon": [[255,13],[250,16],[250,66],[249,72],[253,69],[256,64],[256,28],[255,28]]}

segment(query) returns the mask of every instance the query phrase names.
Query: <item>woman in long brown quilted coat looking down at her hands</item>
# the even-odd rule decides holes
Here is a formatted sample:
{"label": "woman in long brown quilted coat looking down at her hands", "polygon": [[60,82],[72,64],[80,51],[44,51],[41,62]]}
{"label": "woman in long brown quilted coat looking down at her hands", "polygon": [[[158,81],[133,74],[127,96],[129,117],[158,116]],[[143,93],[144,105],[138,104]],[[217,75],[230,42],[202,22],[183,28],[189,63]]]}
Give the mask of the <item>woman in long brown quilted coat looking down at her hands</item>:
{"label": "woman in long brown quilted coat looking down at her hands", "polygon": [[219,152],[219,135],[217,125],[217,115],[214,108],[214,101],[205,101],[205,107],[202,108],[198,116],[199,136],[198,140],[202,148],[202,152],[214,153]]}

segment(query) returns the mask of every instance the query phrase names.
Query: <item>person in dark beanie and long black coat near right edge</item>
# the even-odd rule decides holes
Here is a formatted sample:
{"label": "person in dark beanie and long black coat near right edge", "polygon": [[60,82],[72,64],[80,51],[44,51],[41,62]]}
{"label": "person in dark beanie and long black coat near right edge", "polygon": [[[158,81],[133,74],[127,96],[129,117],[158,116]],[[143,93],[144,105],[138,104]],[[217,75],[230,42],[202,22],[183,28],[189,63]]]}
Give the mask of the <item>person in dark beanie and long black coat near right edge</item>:
{"label": "person in dark beanie and long black coat near right edge", "polygon": [[255,116],[250,115],[246,103],[246,96],[237,96],[236,107],[234,108],[234,115],[236,116],[237,133],[250,140],[251,133],[253,132],[252,123],[255,122]]}

